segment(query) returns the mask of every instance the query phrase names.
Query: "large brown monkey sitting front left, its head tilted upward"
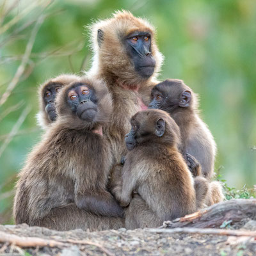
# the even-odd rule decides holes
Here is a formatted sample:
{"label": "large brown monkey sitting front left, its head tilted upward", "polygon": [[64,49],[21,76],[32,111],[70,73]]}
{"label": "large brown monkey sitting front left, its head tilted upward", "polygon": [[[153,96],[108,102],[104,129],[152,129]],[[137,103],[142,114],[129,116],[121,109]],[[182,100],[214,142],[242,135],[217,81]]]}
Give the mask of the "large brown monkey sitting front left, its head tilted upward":
{"label": "large brown monkey sitting front left, its head tilted upward", "polygon": [[19,174],[15,223],[56,230],[122,227],[123,209],[105,189],[112,157],[100,131],[111,104],[106,85],[86,77],[58,93],[58,118]]}

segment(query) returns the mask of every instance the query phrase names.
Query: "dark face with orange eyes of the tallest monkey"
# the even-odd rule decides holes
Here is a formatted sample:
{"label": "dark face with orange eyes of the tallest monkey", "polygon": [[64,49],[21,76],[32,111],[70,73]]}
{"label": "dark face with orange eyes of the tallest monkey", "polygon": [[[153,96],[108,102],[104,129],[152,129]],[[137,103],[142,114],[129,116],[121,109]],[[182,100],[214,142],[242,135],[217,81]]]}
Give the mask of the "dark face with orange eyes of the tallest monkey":
{"label": "dark face with orange eyes of the tallest monkey", "polygon": [[152,76],[156,60],[152,55],[150,33],[141,31],[132,33],[125,38],[125,48],[135,71],[143,78]]}

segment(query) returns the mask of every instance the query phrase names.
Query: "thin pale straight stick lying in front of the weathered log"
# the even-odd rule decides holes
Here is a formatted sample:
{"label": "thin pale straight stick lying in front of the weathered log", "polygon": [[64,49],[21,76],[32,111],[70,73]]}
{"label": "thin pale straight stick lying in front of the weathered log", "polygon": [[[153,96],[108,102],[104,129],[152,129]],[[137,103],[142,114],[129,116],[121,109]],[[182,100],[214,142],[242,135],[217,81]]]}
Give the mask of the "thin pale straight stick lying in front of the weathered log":
{"label": "thin pale straight stick lying in front of the weathered log", "polygon": [[221,228],[148,228],[150,233],[189,233],[189,234],[205,234],[218,236],[250,236],[256,237],[256,231],[248,230],[228,230]]}

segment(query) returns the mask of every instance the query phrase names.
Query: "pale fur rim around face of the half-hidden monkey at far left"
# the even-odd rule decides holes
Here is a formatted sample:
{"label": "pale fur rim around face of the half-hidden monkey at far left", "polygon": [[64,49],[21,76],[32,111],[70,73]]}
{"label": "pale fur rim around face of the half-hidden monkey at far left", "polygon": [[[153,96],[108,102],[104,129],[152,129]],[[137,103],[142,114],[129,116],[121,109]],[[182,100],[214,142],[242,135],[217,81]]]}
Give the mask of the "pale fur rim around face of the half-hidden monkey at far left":
{"label": "pale fur rim around face of the half-hidden monkey at far left", "polygon": [[45,81],[45,83],[40,85],[40,87],[38,88],[39,112],[36,114],[36,119],[37,119],[38,125],[42,129],[46,129],[52,123],[52,121],[49,120],[47,113],[45,112],[44,97],[45,97],[45,92],[47,90],[47,87],[49,86],[62,87],[74,81],[78,81],[78,79],[79,77],[73,74],[62,74],[55,78],[48,79],[47,81]]}

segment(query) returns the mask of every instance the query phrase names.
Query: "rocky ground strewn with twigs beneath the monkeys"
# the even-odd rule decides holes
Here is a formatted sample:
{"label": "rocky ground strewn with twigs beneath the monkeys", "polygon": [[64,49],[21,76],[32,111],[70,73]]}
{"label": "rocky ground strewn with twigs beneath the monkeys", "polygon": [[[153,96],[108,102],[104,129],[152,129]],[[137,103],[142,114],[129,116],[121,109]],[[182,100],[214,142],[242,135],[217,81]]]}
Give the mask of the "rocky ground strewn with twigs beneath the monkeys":
{"label": "rocky ground strewn with twigs beneath the monkeys", "polygon": [[[252,200],[250,208],[254,206]],[[221,228],[196,228],[196,221],[191,218],[190,224],[186,218],[186,227],[184,219],[180,219],[181,228],[165,225],[100,232],[57,232],[25,224],[0,225],[0,255],[256,255],[256,211],[249,215],[243,220],[226,220]],[[230,213],[226,216],[232,217]]]}

